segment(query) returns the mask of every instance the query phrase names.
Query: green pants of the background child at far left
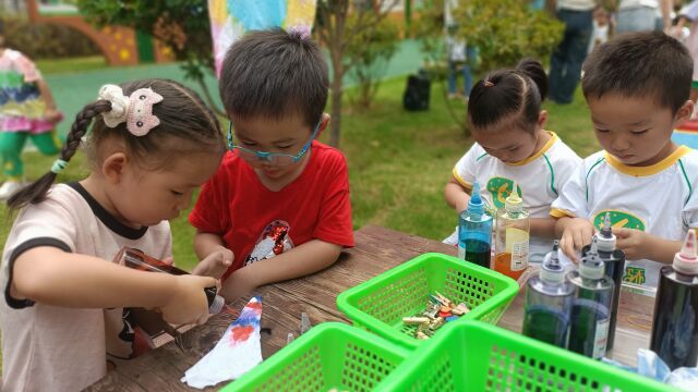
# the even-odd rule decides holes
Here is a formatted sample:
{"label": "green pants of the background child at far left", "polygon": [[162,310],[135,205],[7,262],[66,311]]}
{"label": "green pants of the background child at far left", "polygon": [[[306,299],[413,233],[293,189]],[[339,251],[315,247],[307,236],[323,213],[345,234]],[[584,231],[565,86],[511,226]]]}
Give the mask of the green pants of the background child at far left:
{"label": "green pants of the background child at far left", "polygon": [[56,131],[40,134],[29,134],[28,132],[0,132],[0,158],[2,159],[2,173],[8,180],[20,181],[24,174],[22,163],[22,150],[26,138],[32,138],[32,143],[44,155],[55,155],[60,152],[60,143],[56,138]]}

